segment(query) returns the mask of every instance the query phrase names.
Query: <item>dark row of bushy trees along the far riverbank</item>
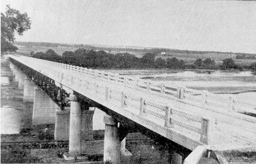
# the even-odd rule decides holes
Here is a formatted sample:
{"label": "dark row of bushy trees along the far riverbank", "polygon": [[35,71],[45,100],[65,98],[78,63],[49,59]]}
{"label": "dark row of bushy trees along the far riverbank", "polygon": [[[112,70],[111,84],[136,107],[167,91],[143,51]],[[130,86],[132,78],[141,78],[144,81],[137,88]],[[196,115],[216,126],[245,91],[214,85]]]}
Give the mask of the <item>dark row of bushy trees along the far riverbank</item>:
{"label": "dark row of bushy trees along the far riverbank", "polygon": [[31,52],[31,56],[49,61],[63,62],[92,69],[250,69],[256,70],[256,62],[249,66],[237,65],[232,58],[226,58],[222,64],[216,64],[214,59],[198,58],[194,63],[186,63],[175,57],[163,59],[156,58],[154,53],[145,53],[142,57],[136,57],[130,53],[107,53],[103,50],[80,48],[75,51],[65,51],[62,56],[54,50],[49,49],[44,52]]}

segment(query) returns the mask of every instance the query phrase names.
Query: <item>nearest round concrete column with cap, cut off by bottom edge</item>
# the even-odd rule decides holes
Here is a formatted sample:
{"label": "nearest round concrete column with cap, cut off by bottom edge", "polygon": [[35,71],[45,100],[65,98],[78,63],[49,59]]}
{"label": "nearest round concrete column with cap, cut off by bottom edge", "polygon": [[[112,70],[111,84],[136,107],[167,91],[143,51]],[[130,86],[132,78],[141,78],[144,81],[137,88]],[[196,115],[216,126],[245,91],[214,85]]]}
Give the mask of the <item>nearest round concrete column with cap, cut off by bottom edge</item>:
{"label": "nearest round concrete column with cap, cut off by bottom edge", "polygon": [[118,135],[117,122],[108,114],[104,115],[105,138],[104,138],[104,162],[113,164],[120,163],[121,141]]}

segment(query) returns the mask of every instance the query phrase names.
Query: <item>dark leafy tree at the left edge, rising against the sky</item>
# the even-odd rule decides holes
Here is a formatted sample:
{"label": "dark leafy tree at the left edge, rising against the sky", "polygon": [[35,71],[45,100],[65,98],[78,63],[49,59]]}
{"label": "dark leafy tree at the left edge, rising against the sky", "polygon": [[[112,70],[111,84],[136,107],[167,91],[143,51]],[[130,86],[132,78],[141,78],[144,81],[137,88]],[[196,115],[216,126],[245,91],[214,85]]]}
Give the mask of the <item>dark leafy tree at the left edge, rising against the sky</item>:
{"label": "dark leafy tree at the left edge, rising against the sky", "polygon": [[14,33],[22,36],[24,31],[30,29],[31,21],[27,13],[20,13],[7,5],[7,10],[1,13],[1,53],[13,52],[18,48],[12,43],[15,41]]}

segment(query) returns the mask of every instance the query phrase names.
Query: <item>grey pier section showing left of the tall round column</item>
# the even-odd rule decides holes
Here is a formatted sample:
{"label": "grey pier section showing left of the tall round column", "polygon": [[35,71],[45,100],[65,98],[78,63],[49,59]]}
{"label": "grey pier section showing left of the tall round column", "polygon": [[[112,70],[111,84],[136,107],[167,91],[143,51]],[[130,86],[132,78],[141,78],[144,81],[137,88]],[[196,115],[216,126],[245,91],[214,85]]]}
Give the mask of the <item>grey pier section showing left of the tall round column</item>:
{"label": "grey pier section showing left of the tall round column", "polygon": [[56,141],[69,140],[69,120],[70,120],[70,109],[56,110],[54,140]]}

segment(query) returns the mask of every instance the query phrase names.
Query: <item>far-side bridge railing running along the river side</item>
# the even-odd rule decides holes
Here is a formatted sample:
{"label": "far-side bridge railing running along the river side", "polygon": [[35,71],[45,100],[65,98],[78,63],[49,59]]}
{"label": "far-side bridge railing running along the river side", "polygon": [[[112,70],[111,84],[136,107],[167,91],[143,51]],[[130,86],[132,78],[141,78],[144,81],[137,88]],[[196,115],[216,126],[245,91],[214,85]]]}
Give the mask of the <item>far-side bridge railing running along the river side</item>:
{"label": "far-side bridge railing running along the river side", "polygon": [[[36,59],[36,58],[30,58]],[[92,70],[87,68],[82,68],[74,65],[63,64],[59,62],[47,61],[39,59],[44,63],[52,64],[57,67],[65,68],[72,71],[82,71],[85,74],[94,76],[95,78],[103,78],[107,80],[115,80],[116,82],[122,82],[127,87],[137,87],[150,92],[161,93],[162,95],[167,96],[176,96],[178,99],[192,100],[197,103],[194,103],[195,106],[198,106],[198,103],[201,104],[199,107],[203,106],[206,109],[211,110],[212,107],[219,109],[227,109],[229,112],[246,112],[256,114],[256,102],[251,101],[241,101],[235,99],[233,96],[222,96],[219,94],[210,93],[207,90],[196,90],[190,89],[187,87],[177,87],[177,86],[167,86],[166,84],[159,84],[152,82],[150,80],[138,79],[126,75],[114,75],[114,79],[111,78],[112,73],[106,73],[104,71]],[[101,76],[98,76],[98,75]],[[106,76],[105,76],[106,75]],[[222,101],[223,103],[216,103]]]}

